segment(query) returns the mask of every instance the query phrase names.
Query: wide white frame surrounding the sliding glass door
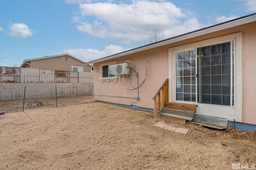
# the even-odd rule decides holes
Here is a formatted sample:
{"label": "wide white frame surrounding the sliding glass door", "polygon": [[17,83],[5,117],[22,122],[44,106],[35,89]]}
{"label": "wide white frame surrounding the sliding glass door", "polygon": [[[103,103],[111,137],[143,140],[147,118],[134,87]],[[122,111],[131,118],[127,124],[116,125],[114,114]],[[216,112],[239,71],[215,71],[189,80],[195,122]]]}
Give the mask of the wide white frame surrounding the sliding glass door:
{"label": "wide white frame surrounding the sliding glass door", "polygon": [[[242,33],[234,33],[191,43],[188,45],[182,45],[169,49],[169,102],[176,102],[175,100],[175,57],[174,52],[176,51],[187,51],[196,49],[197,47],[204,47],[213,44],[219,44],[234,40],[234,106],[221,106],[212,104],[197,104],[196,114],[207,115],[212,117],[222,117],[229,121],[234,119],[238,122],[242,122]],[[182,102],[182,101],[180,101]],[[188,102],[184,102],[188,103]],[[191,103],[191,102],[189,102]]]}

